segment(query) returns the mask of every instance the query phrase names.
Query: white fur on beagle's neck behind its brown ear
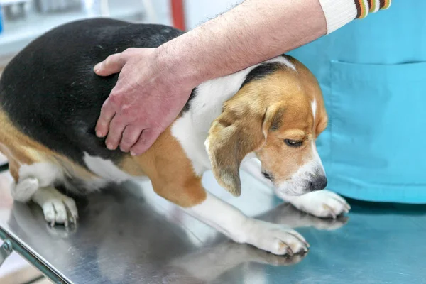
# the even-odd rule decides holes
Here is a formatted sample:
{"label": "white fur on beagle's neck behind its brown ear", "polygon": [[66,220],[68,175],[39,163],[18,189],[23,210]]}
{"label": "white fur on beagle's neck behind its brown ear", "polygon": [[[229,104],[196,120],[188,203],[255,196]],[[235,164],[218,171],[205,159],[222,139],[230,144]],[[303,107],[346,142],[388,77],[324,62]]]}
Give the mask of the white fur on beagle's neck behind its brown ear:
{"label": "white fur on beagle's neck behind its brown ear", "polygon": [[[283,56],[266,61],[268,62],[281,62],[295,70],[295,66]],[[198,175],[211,168],[204,143],[208,145],[206,140],[212,122],[222,113],[224,102],[238,92],[247,74],[257,66],[253,65],[234,74],[200,84],[189,111],[173,124],[172,134],[180,142]]]}

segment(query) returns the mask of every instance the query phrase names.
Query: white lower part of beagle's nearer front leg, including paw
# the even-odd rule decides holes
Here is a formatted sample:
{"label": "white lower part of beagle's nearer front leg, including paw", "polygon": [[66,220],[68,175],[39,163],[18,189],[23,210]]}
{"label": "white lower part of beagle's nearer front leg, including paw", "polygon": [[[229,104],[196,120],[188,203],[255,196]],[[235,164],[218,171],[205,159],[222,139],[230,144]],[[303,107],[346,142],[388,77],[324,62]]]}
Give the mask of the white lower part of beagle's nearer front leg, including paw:
{"label": "white lower part of beagle's nearer front leg, including paw", "polygon": [[186,211],[238,243],[251,244],[278,255],[307,251],[309,246],[290,227],[246,217],[239,209],[209,193],[204,202]]}

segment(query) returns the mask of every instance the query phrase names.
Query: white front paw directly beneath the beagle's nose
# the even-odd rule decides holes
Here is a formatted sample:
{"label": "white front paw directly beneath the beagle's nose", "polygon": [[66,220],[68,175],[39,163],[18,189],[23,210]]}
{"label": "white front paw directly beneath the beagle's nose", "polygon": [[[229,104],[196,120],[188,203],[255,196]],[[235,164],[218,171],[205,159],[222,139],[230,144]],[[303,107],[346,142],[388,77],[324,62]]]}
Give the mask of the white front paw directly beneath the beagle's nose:
{"label": "white front paw directly beneath the beagle's nose", "polygon": [[343,197],[329,190],[320,190],[294,197],[285,196],[283,199],[288,200],[303,212],[322,218],[336,219],[337,216],[348,213],[351,209],[351,206]]}

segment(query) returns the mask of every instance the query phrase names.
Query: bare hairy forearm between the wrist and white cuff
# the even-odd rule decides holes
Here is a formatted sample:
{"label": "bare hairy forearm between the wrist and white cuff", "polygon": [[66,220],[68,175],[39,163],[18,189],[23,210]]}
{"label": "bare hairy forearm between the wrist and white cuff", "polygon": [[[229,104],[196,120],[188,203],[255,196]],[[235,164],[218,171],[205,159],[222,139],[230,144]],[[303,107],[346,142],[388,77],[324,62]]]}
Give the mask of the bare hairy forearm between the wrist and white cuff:
{"label": "bare hairy forearm between the wrist and white cuff", "polygon": [[229,75],[327,33],[318,0],[246,0],[162,45],[163,62],[195,85]]}

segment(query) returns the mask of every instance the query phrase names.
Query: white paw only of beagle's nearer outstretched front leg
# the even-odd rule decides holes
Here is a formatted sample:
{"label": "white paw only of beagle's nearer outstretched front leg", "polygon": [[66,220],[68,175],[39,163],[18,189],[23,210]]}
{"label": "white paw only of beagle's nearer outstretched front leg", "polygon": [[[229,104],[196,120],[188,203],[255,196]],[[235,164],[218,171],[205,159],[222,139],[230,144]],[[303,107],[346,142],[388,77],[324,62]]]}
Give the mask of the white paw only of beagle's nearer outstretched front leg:
{"label": "white paw only of beagle's nearer outstretched front leg", "polygon": [[246,243],[258,249],[289,256],[293,256],[294,253],[305,253],[309,249],[305,238],[288,226],[257,219],[249,219],[248,222]]}

